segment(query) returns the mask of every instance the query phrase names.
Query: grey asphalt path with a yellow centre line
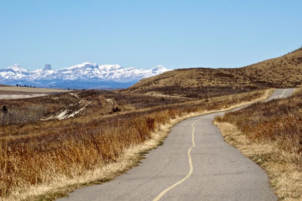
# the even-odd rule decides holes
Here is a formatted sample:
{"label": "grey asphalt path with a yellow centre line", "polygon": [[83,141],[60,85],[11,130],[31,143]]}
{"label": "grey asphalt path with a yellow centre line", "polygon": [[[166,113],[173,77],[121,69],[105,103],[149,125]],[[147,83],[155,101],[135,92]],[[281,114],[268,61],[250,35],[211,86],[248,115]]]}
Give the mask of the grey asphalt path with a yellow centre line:
{"label": "grey asphalt path with a yellow centre line", "polygon": [[[269,99],[285,98],[293,91],[277,89]],[[276,201],[264,170],[227,144],[212,124],[214,117],[223,114],[180,122],[164,144],[151,150],[138,167],[59,200]]]}

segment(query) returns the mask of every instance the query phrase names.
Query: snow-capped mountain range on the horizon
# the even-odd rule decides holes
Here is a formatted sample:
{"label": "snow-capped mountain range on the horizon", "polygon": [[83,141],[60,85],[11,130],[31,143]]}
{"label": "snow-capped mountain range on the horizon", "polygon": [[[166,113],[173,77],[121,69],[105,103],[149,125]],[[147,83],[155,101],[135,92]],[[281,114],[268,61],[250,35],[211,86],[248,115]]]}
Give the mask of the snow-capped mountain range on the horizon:
{"label": "snow-capped mountain range on the horizon", "polygon": [[[83,64],[66,67],[59,70],[51,68],[46,64],[43,69],[27,70],[18,64],[0,69],[0,79],[6,84],[35,84],[37,86],[69,86],[70,83],[77,83],[77,86],[96,87],[99,83],[119,83],[118,86],[131,86],[135,82],[158,75],[168,71],[167,68],[159,65],[151,69],[137,69],[135,67],[123,68],[119,65],[97,65],[85,62]],[[90,83],[90,84],[87,84]],[[93,84],[92,84],[93,83]],[[130,85],[131,84],[131,85]]]}

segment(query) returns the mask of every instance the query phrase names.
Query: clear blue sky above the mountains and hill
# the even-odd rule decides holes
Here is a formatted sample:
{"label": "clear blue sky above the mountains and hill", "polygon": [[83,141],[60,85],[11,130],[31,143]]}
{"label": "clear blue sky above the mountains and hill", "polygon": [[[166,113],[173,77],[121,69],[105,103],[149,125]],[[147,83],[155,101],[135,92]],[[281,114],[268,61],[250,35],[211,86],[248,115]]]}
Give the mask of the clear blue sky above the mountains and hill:
{"label": "clear blue sky above the mountains and hill", "polygon": [[0,0],[0,68],[242,67],[302,45],[302,0]]}

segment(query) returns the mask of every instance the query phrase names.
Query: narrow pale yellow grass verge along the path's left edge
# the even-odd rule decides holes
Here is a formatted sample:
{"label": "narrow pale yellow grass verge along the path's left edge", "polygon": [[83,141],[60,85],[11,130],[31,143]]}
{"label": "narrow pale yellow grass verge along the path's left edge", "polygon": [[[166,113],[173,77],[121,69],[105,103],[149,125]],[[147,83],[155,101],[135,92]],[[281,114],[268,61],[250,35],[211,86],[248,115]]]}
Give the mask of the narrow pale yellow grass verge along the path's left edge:
{"label": "narrow pale yellow grass verge along the path's left edge", "polygon": [[273,89],[267,90],[265,95],[261,98],[255,99],[253,101],[234,104],[225,109],[192,112],[187,115],[171,119],[170,123],[161,125],[159,127],[160,129],[153,132],[152,137],[149,140],[145,141],[143,144],[132,146],[126,149],[124,151],[124,154],[119,157],[114,163],[93,170],[85,171],[80,176],[76,176],[75,178],[68,178],[64,175],[57,175],[57,177],[53,179],[53,182],[50,184],[40,184],[31,186],[29,188],[22,187],[13,189],[13,193],[10,194],[9,197],[4,198],[3,201],[53,200],[55,198],[66,196],[68,192],[71,192],[76,188],[109,181],[115,176],[124,173],[131,167],[137,166],[137,164],[142,159],[142,156],[151,149],[154,149],[158,145],[162,144],[164,138],[169,134],[170,129],[180,121],[202,114],[226,111],[243,105],[251,104],[256,101],[265,100],[272,94],[273,91]]}

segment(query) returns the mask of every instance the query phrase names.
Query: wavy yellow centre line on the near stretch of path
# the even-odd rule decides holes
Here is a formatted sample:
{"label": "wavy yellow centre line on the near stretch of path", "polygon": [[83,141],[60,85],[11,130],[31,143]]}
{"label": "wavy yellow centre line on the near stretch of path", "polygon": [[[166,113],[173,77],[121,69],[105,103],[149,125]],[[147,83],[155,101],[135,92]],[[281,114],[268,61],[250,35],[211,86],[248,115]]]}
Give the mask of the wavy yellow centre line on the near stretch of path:
{"label": "wavy yellow centre line on the near stretch of path", "polygon": [[156,198],[153,199],[153,201],[159,201],[168,191],[170,191],[171,189],[173,189],[174,187],[176,187],[177,185],[183,183],[184,181],[186,181],[191,174],[193,173],[193,164],[192,164],[192,159],[191,159],[191,149],[195,146],[195,141],[194,141],[194,131],[195,131],[195,127],[194,124],[199,121],[200,119],[197,119],[196,121],[194,121],[191,125],[191,127],[193,128],[192,130],[192,146],[189,148],[188,150],[188,159],[189,159],[189,173],[180,181],[176,182],[175,184],[173,184],[172,186],[166,188],[165,190],[163,190],[160,194],[158,194],[158,196]]}

